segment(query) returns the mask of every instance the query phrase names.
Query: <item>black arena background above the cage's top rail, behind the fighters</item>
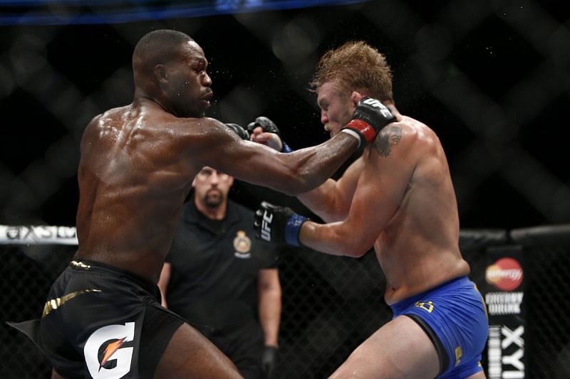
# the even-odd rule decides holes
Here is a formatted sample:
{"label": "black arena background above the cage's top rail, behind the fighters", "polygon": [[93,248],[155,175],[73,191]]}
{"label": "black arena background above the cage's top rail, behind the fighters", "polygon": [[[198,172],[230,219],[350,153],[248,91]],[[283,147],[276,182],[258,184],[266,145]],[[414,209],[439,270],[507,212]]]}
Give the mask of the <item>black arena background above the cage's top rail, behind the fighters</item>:
{"label": "black arena background above the cage's top rail, behind the fighters", "polygon": [[[247,124],[264,114],[294,149],[328,138],[307,90],[318,57],[363,39],[387,55],[400,112],[440,136],[463,228],[567,223],[570,13],[564,3],[368,1],[131,23],[0,26],[0,223],[75,224],[81,132],[95,114],[132,100],[130,56],[140,36],[156,28],[184,31],[204,48],[215,95],[209,116]],[[95,13],[51,8],[59,16],[74,11]],[[259,196],[304,211],[271,191],[238,184],[232,192],[251,207]]]}

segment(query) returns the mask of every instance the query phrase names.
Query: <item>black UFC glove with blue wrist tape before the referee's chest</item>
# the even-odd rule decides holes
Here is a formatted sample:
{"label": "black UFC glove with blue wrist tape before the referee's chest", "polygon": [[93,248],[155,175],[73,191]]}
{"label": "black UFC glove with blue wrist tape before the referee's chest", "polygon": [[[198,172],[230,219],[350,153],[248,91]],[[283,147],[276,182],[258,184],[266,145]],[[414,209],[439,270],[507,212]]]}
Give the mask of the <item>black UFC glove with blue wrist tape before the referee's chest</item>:
{"label": "black UFC glove with blue wrist tape before the referee's chest", "polygon": [[254,216],[255,235],[261,240],[301,246],[301,226],[309,218],[294,213],[291,208],[263,201]]}

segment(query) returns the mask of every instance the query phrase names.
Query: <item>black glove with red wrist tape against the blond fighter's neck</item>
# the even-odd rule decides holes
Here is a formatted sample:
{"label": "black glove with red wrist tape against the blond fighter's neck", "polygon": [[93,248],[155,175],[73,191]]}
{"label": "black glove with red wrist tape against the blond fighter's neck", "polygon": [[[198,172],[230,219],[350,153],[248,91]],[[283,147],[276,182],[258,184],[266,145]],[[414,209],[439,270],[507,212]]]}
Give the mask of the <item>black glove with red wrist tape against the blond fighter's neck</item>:
{"label": "black glove with red wrist tape against the blond fighter's neck", "polygon": [[363,142],[370,144],[376,134],[390,122],[395,122],[396,118],[383,105],[380,100],[372,97],[363,97],[356,105],[356,110],[352,114],[351,122],[343,127],[341,132],[347,132],[360,141],[358,147],[363,146]]}

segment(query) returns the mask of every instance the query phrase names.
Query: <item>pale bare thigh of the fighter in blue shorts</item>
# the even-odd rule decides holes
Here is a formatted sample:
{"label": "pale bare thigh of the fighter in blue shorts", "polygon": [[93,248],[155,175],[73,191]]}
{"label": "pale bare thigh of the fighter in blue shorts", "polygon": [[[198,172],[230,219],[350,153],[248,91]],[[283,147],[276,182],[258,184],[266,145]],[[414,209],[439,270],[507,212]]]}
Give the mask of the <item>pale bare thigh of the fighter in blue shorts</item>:
{"label": "pale bare thigh of the fighter in blue shorts", "polygon": [[375,331],[331,378],[435,378],[437,352],[412,319],[399,316]]}

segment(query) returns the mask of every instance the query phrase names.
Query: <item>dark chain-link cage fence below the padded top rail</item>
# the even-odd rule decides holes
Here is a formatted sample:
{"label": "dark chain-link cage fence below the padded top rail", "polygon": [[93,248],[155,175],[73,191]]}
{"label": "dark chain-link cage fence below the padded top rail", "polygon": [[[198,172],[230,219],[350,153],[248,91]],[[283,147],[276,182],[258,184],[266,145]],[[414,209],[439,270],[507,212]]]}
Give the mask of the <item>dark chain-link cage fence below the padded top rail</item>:
{"label": "dark chain-link cage fence below the padded top rail", "polygon": [[[487,248],[524,247],[529,284],[526,378],[568,378],[570,373],[570,225],[504,230],[463,230],[460,245],[471,279],[484,285]],[[0,378],[48,378],[46,359],[4,321],[37,318],[53,279],[73,246],[2,245],[0,274]],[[276,378],[326,378],[351,351],[392,317],[383,301],[385,277],[373,252],[352,259],[309,249],[282,252],[283,310]],[[386,348],[390,348],[386,346]],[[486,368],[486,359],[483,359]]]}

